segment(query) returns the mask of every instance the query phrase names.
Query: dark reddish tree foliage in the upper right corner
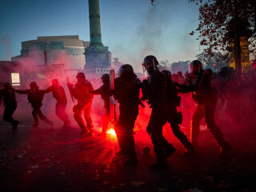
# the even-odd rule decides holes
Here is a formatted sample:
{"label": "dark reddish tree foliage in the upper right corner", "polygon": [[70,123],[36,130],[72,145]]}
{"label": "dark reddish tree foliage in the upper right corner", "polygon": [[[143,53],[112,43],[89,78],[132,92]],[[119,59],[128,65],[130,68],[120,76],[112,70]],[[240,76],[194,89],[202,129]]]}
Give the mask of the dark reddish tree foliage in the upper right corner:
{"label": "dark reddish tree foliage in the upper right corner", "polygon": [[[211,56],[214,52],[226,51],[234,23],[240,34],[250,35],[250,51],[255,54],[256,1],[255,0],[190,0],[199,7],[199,24],[195,30],[201,46]],[[250,32],[250,33],[249,33]],[[194,35],[192,31],[190,35]]]}

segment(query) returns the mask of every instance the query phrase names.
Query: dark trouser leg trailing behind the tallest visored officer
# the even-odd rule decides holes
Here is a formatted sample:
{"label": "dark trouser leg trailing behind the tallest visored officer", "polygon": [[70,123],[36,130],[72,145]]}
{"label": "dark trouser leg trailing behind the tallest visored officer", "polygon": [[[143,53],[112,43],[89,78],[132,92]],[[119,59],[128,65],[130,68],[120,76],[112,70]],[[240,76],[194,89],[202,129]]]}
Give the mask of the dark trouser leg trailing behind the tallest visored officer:
{"label": "dark trouser leg trailing behind the tallest visored officer", "polygon": [[176,106],[168,107],[168,122],[170,123],[170,127],[173,130],[174,136],[178,138],[182,145],[185,146],[186,150],[192,150],[193,146],[191,142],[186,138],[186,135],[180,130],[178,125],[178,111]]}

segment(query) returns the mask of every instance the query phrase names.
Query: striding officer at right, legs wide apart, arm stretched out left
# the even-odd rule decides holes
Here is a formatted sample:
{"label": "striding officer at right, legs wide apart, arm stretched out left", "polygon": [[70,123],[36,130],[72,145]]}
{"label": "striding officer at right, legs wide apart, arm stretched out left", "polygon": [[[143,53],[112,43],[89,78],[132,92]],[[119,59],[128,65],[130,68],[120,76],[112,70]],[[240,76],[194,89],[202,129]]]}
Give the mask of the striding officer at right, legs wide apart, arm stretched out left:
{"label": "striding officer at right, legs wide apart, arm stretched out left", "polygon": [[197,108],[191,122],[191,142],[196,149],[198,148],[198,135],[200,121],[205,117],[206,126],[210,133],[222,146],[222,154],[226,154],[230,150],[230,145],[225,141],[221,130],[214,122],[214,110],[216,106],[217,90],[211,86],[210,77],[202,70],[202,63],[198,60],[190,64],[193,72],[190,83],[187,86],[179,85],[183,92],[192,92],[192,98],[197,103]]}

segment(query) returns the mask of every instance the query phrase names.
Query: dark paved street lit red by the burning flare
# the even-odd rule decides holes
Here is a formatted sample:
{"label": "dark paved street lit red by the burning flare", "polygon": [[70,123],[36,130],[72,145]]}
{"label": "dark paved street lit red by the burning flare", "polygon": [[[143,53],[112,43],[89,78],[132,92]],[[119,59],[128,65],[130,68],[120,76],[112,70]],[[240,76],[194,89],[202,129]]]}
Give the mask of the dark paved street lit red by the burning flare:
{"label": "dark paved street lit red by the burning flare", "polygon": [[[201,153],[182,158],[185,150],[166,126],[166,138],[177,150],[168,159],[169,169],[158,171],[150,170],[155,157],[145,130],[134,135],[138,167],[126,168],[123,157],[115,157],[118,146],[111,134],[86,138],[76,127],[34,129],[31,122],[21,122],[17,131],[4,122],[0,127],[0,191],[256,190],[255,126],[245,127],[244,134],[226,134],[234,148],[226,161],[218,158],[218,144],[207,130],[200,134]],[[150,154],[143,154],[145,146]]]}

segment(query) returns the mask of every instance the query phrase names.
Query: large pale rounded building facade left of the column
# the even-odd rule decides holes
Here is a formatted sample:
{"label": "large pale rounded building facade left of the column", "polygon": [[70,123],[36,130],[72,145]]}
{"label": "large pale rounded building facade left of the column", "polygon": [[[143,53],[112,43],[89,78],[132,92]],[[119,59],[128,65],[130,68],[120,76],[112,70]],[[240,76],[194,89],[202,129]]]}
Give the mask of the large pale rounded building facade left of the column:
{"label": "large pale rounded building facade left of the column", "polygon": [[84,42],[78,35],[46,36],[22,42],[21,54],[12,61],[32,59],[37,65],[63,65],[64,70],[84,70],[85,49],[90,42]]}

